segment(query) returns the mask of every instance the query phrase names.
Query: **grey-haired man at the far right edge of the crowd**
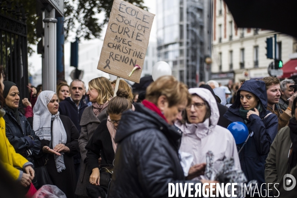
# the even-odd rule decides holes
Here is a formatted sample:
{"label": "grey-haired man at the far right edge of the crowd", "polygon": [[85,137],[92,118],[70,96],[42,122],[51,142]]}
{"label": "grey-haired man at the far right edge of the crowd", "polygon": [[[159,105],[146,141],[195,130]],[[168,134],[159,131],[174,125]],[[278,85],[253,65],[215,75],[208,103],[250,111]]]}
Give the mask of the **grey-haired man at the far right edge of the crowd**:
{"label": "grey-haired man at the far right edge of the crowd", "polygon": [[279,100],[279,105],[282,110],[286,110],[289,105],[288,99],[294,95],[294,89],[290,89],[290,85],[294,85],[295,82],[292,79],[285,79],[281,82],[281,98]]}

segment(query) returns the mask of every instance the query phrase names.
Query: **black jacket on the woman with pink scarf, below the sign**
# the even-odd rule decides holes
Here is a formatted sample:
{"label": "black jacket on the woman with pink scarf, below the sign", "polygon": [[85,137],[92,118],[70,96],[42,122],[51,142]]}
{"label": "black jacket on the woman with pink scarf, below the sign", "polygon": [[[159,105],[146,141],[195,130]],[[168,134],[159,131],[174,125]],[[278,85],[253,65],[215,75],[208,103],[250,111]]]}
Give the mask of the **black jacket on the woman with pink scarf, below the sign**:
{"label": "black jacket on the woman with pink scarf, below the sign", "polygon": [[[116,133],[114,133],[115,135]],[[112,148],[112,142],[110,133],[107,128],[107,120],[103,120],[92,138],[86,146],[87,157],[85,163],[92,172],[93,168],[99,167],[98,159],[101,157],[101,164],[113,164],[114,150]]]}

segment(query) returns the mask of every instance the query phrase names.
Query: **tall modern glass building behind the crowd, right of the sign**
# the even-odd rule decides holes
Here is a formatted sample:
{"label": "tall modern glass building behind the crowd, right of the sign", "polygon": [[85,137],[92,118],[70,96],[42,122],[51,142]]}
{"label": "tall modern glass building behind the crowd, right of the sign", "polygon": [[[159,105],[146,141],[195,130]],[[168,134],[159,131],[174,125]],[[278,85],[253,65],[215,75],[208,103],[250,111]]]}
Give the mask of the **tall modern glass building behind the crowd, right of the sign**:
{"label": "tall modern glass building behind the crowd, right of the sign", "polygon": [[208,80],[206,57],[211,55],[210,0],[157,1],[158,61],[189,87]]}

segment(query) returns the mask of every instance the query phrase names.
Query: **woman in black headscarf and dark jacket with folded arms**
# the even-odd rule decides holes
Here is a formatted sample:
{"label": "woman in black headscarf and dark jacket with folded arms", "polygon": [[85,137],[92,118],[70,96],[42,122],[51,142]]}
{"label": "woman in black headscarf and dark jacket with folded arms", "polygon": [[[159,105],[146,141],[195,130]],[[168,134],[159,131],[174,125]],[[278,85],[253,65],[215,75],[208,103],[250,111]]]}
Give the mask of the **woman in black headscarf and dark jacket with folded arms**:
{"label": "woman in black headscarf and dark jacket with folded arms", "polygon": [[27,118],[18,111],[20,97],[15,83],[4,81],[3,97],[5,103],[3,116],[6,125],[6,137],[17,153],[30,162],[40,151],[40,139],[31,128]]}

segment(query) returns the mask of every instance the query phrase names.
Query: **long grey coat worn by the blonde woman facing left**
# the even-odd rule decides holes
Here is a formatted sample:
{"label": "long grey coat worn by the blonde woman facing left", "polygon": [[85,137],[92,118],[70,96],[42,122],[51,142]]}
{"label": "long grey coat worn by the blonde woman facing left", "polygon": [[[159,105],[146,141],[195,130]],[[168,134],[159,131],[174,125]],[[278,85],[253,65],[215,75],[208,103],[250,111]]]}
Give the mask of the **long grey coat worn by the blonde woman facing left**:
{"label": "long grey coat worn by the blonde woman facing left", "polygon": [[104,119],[107,119],[107,107],[103,109],[99,115],[96,115],[93,112],[93,106],[87,107],[82,115],[82,119],[80,122],[81,125],[81,134],[78,139],[78,145],[81,153],[81,171],[79,180],[77,182],[77,187],[75,194],[79,196],[88,196],[87,194],[87,184],[89,183],[90,173],[91,171],[87,168],[84,160],[87,156],[86,145],[88,144],[89,140],[92,138],[94,131],[99,126],[100,122]]}

